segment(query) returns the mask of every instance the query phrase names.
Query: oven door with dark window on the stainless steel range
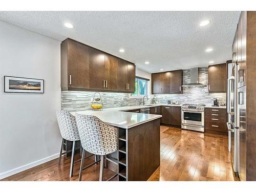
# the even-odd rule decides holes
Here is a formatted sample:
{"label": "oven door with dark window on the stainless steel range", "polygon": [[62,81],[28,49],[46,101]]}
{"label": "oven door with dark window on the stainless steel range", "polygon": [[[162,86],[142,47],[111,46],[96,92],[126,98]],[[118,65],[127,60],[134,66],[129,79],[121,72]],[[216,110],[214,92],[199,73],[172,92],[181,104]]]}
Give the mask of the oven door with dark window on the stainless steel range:
{"label": "oven door with dark window on the stainless steel range", "polygon": [[204,126],[204,110],[182,110],[181,122]]}

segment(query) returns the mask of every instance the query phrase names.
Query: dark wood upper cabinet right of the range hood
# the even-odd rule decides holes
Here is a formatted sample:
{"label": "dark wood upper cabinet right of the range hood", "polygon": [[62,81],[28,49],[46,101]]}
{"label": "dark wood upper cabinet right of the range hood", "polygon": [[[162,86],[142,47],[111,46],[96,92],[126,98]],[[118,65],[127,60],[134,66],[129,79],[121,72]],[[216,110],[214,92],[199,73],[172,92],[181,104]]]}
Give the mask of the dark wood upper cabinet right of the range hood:
{"label": "dark wood upper cabinet right of the range hood", "polygon": [[226,63],[208,67],[208,91],[209,93],[226,92]]}

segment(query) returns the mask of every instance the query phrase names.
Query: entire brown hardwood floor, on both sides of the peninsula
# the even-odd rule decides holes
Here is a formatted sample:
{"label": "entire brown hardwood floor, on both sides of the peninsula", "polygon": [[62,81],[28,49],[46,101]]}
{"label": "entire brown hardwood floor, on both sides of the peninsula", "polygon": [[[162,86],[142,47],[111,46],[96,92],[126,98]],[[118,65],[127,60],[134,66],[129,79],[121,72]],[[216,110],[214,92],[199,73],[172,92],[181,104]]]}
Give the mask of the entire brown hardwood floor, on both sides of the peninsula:
{"label": "entire brown hardwood floor, on both sides of the peninsula", "polygon": [[[227,137],[161,126],[161,165],[149,181],[234,181]],[[78,159],[79,156],[76,156]],[[86,165],[92,163],[86,159]],[[77,181],[80,162],[69,178],[70,158],[58,159],[25,170],[2,181]],[[104,180],[114,175],[104,169]],[[99,164],[83,171],[83,181],[99,180]],[[116,180],[113,179],[113,180]]]}

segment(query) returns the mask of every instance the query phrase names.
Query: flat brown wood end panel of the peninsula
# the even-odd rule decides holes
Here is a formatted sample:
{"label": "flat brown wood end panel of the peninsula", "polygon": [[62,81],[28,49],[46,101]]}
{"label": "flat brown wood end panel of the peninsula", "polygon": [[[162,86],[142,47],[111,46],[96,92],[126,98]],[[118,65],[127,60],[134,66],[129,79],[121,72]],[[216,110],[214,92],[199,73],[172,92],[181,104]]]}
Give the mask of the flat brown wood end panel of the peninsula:
{"label": "flat brown wood end panel of the peninsula", "polygon": [[128,130],[128,180],[146,181],[160,166],[160,119]]}

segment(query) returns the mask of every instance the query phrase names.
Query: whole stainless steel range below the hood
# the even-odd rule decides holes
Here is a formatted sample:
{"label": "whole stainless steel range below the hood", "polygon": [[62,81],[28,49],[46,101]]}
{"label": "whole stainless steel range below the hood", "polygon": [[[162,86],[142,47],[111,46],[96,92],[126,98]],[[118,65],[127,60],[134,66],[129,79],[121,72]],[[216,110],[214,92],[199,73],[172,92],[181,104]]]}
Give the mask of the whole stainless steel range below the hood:
{"label": "whole stainless steel range below the hood", "polygon": [[181,129],[204,132],[204,104],[181,106]]}

